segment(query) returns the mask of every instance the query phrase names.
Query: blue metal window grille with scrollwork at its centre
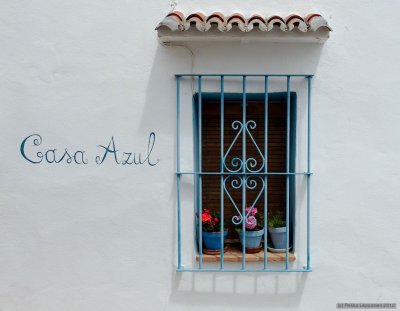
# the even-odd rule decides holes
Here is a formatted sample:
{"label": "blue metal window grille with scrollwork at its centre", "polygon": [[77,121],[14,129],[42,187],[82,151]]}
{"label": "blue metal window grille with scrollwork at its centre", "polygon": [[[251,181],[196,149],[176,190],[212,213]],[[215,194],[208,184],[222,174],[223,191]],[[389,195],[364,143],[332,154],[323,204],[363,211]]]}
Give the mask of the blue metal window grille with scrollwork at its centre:
{"label": "blue metal window grille with scrollwork at its centre", "polygon": [[[204,79],[209,77],[220,79],[220,92],[203,92],[202,82]],[[226,76],[234,76],[242,79],[242,92],[241,93],[226,93],[224,91],[224,78]],[[265,89],[263,93],[248,93],[246,91],[247,77],[256,76],[264,80]],[[268,81],[273,77],[286,77],[286,92],[268,92]],[[196,78],[198,93],[193,96],[193,127],[194,127],[194,167],[192,172],[180,171],[180,79],[182,78]],[[297,119],[297,96],[295,92],[290,91],[291,78],[306,78],[307,79],[307,172],[296,172],[295,158],[296,158],[296,119]],[[177,79],[177,216],[178,216],[178,271],[258,271],[258,272],[272,272],[272,271],[284,271],[284,272],[308,272],[310,268],[310,232],[309,232],[309,217],[310,217],[310,104],[311,104],[311,75],[176,75]],[[236,114],[233,121],[229,124],[226,120],[227,107],[236,105],[236,110],[240,105],[240,115]],[[269,158],[271,152],[269,152],[269,115],[271,107],[274,105],[280,105],[285,108],[285,161],[284,169],[282,170],[269,170]],[[219,143],[217,143],[220,149],[218,155],[213,156],[217,158],[216,169],[203,169],[204,163],[208,162],[207,156],[204,159],[203,155],[208,152],[208,147],[204,147],[205,136],[204,133],[207,130],[205,122],[207,117],[205,115],[205,107],[214,106],[218,107],[219,111],[214,112],[214,117],[220,120],[218,131]],[[261,120],[259,124],[251,117],[248,118],[248,111],[250,107],[258,107],[258,114],[255,118]],[[276,106],[278,107],[278,106]],[[256,109],[257,110],[257,109]],[[254,138],[254,129],[257,125],[261,125],[262,129],[259,131],[261,135],[258,138]],[[231,127],[233,136],[229,141],[229,135],[225,134],[226,129]],[[215,135],[215,133],[214,133]],[[228,141],[227,141],[228,140]],[[252,151],[249,152],[249,143],[253,145]],[[261,146],[263,144],[263,146]],[[239,149],[238,149],[238,148]],[[234,152],[233,150],[236,149]],[[205,161],[206,160],[206,161]],[[215,166],[215,165],[214,165]],[[224,267],[224,238],[221,235],[221,251],[219,266],[215,269],[209,269],[203,267],[203,241],[202,241],[202,225],[201,222],[196,222],[195,236],[198,246],[198,267],[193,269],[183,268],[181,262],[181,211],[180,211],[180,196],[181,196],[181,177],[184,174],[192,174],[195,177],[195,210],[198,218],[201,219],[202,208],[203,208],[203,188],[207,185],[206,179],[210,176],[219,179],[220,188],[220,213],[221,213],[221,229],[225,227],[224,224],[224,213],[225,206],[230,203],[234,207],[235,216],[232,217],[232,222],[236,225],[240,225],[242,230],[246,231],[245,221],[247,222],[248,216],[251,210],[262,202],[263,214],[264,214],[264,228],[267,228],[268,223],[268,197],[271,195],[269,180],[274,177],[282,177],[285,179],[285,215],[286,223],[289,224],[288,230],[286,231],[286,248],[285,248],[285,268],[284,269],[271,269],[268,265],[267,247],[264,243],[264,257],[263,257],[263,268],[262,269],[249,269],[246,265],[245,255],[245,242],[242,244],[242,262],[240,269],[226,269]],[[296,175],[303,175],[307,179],[307,265],[304,269],[292,269],[289,267],[289,249],[290,246],[294,247],[295,235],[295,177]],[[241,192],[241,202],[236,202],[232,195],[232,189]],[[256,191],[253,198],[250,198],[251,190],[260,189]],[[236,196],[237,197],[237,196]],[[229,198],[229,199],[227,199]],[[260,200],[261,198],[261,200]],[[228,201],[228,202],[227,202]],[[229,202],[230,201],[230,202]],[[251,202],[249,202],[251,201]],[[250,204],[249,204],[250,203]],[[246,211],[245,208],[249,206],[250,211]],[[258,206],[258,205],[257,205]],[[237,217],[237,216],[240,217]],[[236,217],[236,218],[235,218]],[[245,239],[245,235],[243,235]]]}

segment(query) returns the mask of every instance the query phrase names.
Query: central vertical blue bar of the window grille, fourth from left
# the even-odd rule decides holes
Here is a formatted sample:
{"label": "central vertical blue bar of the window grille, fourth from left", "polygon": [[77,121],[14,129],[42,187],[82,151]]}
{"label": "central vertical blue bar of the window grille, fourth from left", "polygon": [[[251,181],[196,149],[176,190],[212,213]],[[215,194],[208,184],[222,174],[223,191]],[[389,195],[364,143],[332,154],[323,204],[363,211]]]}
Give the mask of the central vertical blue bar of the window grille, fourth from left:
{"label": "central vertical blue bar of the window grille, fourth from left", "polygon": [[[246,76],[243,77],[243,101],[242,101],[242,123],[243,123],[243,141],[242,141],[242,172],[246,173]],[[246,268],[246,181],[247,176],[242,177],[242,270]]]}

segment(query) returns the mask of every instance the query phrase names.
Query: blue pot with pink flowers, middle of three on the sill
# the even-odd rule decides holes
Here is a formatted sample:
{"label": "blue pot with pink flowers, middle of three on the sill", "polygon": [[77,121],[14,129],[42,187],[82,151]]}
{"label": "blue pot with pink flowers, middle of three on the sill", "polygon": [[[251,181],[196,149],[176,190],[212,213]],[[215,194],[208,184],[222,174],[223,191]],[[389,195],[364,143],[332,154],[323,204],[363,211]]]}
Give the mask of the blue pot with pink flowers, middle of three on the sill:
{"label": "blue pot with pink flowers, middle of three on the sill", "polygon": [[[245,248],[246,252],[251,252],[252,250],[259,250],[261,247],[261,239],[264,235],[263,217],[256,207],[246,207],[245,211],[247,217],[245,218]],[[237,216],[240,219],[240,216]],[[241,225],[236,228],[239,234],[240,243],[243,245],[243,232]]]}

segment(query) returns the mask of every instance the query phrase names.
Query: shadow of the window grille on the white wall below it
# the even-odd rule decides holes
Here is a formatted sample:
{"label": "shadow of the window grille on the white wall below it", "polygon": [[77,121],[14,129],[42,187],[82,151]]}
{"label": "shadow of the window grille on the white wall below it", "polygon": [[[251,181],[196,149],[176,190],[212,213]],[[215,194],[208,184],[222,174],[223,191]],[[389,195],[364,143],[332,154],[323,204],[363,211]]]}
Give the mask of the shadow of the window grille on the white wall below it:
{"label": "shadow of the window grille on the white wall below it", "polygon": [[175,273],[171,305],[235,306],[268,309],[300,304],[307,273],[203,274]]}

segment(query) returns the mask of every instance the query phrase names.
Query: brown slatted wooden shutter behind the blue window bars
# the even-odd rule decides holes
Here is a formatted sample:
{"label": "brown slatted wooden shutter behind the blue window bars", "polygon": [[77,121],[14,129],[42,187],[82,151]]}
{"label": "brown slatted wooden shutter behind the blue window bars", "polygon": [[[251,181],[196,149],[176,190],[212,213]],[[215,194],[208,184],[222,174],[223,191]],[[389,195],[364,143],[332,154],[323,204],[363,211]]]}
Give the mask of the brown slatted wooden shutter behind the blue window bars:
{"label": "brown slatted wooden shutter behind the blue window bars", "polygon": [[[221,133],[220,133],[220,102],[203,101],[202,111],[202,171],[220,172],[221,156]],[[232,128],[232,122],[242,120],[242,102],[225,101],[224,105],[224,152],[227,152],[237,131]],[[256,128],[251,131],[261,152],[264,154],[264,102],[248,101],[246,107],[247,121],[256,122]],[[259,165],[261,158],[247,136],[246,139],[247,158],[254,157]],[[242,136],[239,137],[236,144],[227,158],[229,162],[232,157],[242,157]],[[268,171],[285,172],[286,171],[286,101],[273,101],[268,104]],[[229,166],[228,166],[229,167]],[[259,166],[258,166],[259,167]],[[255,191],[247,191],[246,206],[252,204],[257,191],[260,191],[260,184]],[[242,208],[241,189],[232,189],[228,187],[239,210]],[[269,176],[267,183],[268,191],[268,209],[285,211],[286,206],[286,178],[285,176]],[[221,177],[219,175],[204,175],[202,178],[202,208],[210,210],[220,210]],[[264,195],[261,195],[258,203],[255,205],[260,212],[264,210]],[[230,237],[235,237],[232,216],[237,215],[233,204],[228,196],[224,195],[225,224],[229,228]]]}

